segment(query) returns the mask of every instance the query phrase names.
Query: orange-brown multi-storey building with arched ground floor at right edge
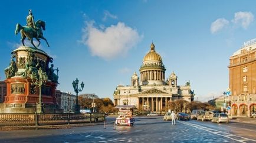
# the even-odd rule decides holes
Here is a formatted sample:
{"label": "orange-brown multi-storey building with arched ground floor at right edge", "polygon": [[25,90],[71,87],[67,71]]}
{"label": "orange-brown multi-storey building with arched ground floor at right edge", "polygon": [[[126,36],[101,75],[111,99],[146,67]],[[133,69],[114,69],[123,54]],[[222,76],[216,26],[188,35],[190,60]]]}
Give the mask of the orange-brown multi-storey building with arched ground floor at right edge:
{"label": "orange-brown multi-storey building with arched ground floor at right edge", "polygon": [[256,111],[256,39],[229,57],[228,68],[231,114],[249,117]]}

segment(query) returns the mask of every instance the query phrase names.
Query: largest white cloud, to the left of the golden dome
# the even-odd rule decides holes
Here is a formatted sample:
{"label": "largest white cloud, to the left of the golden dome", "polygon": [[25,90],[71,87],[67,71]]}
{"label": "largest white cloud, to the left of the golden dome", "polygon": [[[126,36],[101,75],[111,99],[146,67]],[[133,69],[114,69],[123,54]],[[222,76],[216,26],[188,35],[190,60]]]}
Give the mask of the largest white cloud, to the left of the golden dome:
{"label": "largest white cloud, to the left of the golden dome", "polygon": [[92,56],[105,60],[126,56],[142,38],[136,29],[126,26],[123,22],[101,28],[96,28],[94,21],[86,22],[86,27],[82,29],[82,38],[78,42],[88,46]]}

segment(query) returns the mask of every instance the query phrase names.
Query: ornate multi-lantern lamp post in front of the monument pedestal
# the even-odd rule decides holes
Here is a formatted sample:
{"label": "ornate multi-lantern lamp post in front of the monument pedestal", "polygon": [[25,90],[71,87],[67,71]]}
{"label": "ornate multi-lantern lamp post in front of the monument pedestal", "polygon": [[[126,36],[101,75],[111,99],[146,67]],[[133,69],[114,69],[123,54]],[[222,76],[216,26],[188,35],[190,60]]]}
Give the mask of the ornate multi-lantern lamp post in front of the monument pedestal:
{"label": "ornate multi-lantern lamp post in front of the monument pedestal", "polygon": [[47,81],[47,79],[48,79],[48,76],[44,71],[42,71],[41,67],[38,70],[38,75],[37,73],[32,73],[32,76],[31,76],[32,84],[39,87],[39,101],[37,103],[37,113],[44,113],[43,107],[42,107],[41,87]]}

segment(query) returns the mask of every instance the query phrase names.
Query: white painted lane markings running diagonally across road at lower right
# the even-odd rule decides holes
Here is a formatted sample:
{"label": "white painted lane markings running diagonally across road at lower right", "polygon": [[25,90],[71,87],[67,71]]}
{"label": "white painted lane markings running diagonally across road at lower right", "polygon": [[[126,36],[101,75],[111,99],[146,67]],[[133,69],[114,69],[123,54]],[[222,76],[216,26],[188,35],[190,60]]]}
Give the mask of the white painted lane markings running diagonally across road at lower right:
{"label": "white painted lane markings running diagonally across road at lower right", "polygon": [[[208,132],[211,132],[213,134],[216,134],[216,135],[220,135],[222,137],[226,137],[226,138],[230,138],[230,139],[233,139],[235,141],[238,141],[238,142],[245,142],[245,141],[254,141],[256,142],[256,140],[254,139],[250,139],[250,138],[245,138],[245,137],[241,137],[241,136],[238,136],[238,135],[234,135],[234,134],[229,134],[227,132],[223,132],[223,131],[218,131],[218,130],[215,130],[215,129],[212,129],[212,128],[208,128],[208,127],[204,127],[204,126],[201,126],[201,125],[197,125],[197,124],[192,124],[190,122],[184,122],[184,121],[179,121],[180,123],[182,124],[186,124],[186,125],[190,125],[192,127],[195,127],[195,128],[198,128],[200,130],[204,130],[204,131],[208,131]],[[208,128],[208,130],[206,130],[206,128]],[[212,131],[211,131],[212,130]],[[223,135],[221,133],[224,133],[226,135]],[[233,137],[233,138],[232,138]],[[241,138],[241,139],[235,139],[234,137],[238,137],[238,138]]]}

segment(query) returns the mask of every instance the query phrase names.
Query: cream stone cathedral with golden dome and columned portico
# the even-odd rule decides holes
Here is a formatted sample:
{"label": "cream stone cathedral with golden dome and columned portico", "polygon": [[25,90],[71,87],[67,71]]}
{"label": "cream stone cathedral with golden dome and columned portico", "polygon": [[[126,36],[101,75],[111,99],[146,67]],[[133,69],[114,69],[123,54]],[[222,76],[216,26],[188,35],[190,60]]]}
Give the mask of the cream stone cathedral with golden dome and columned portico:
{"label": "cream stone cathedral with golden dome and columned portico", "polygon": [[134,73],[130,86],[117,86],[113,94],[114,104],[135,105],[139,110],[160,112],[167,111],[169,101],[193,101],[189,81],[185,86],[178,86],[178,77],[174,72],[165,80],[165,70],[162,57],[156,53],[152,43],[140,66],[140,78]]}

